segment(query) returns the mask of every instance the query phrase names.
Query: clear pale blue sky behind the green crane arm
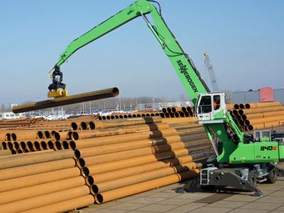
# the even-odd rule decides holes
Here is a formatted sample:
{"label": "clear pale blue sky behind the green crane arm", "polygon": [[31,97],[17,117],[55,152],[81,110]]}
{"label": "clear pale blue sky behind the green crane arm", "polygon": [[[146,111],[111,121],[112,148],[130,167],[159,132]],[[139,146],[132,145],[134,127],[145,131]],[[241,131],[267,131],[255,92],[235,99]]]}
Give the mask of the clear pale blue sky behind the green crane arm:
{"label": "clear pale blue sky behind the green crane arm", "polygon": [[[47,72],[68,43],[133,1],[0,1],[0,102],[45,99]],[[283,88],[284,1],[160,1],[180,45],[204,75],[209,51],[219,87]],[[62,65],[70,94],[119,87],[123,97],[178,98],[175,70],[136,18]]]}

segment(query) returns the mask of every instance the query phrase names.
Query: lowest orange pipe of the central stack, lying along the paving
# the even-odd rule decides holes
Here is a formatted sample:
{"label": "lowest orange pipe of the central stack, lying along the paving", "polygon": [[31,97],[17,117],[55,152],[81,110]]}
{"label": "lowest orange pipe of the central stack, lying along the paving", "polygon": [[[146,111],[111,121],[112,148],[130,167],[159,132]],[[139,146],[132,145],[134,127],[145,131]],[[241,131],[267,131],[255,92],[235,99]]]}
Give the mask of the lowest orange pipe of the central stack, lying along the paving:
{"label": "lowest orange pipe of the central stack, lying along the paving", "polygon": [[140,182],[138,184],[129,185],[126,187],[121,187],[115,190],[109,190],[107,192],[102,192],[96,195],[95,200],[98,204],[103,202],[108,202],[111,200],[116,200],[121,197],[126,197],[129,195],[134,195],[139,192],[145,192],[148,190],[153,190],[157,187],[163,187],[165,185],[170,185],[175,182],[180,182],[181,180],[187,180],[196,177],[200,173],[200,170],[190,170],[184,173],[168,175],[163,178],[157,178],[154,180],[148,180],[146,182]]}

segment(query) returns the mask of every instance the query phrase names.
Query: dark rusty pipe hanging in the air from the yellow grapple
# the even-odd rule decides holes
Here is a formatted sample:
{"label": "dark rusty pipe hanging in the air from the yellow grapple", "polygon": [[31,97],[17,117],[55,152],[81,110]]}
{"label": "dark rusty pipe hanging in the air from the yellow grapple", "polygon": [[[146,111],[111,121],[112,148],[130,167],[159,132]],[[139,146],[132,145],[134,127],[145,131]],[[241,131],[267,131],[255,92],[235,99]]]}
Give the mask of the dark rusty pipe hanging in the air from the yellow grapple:
{"label": "dark rusty pipe hanging in the air from the yellow grapple", "polygon": [[81,102],[94,101],[98,99],[106,99],[109,97],[116,97],[119,95],[119,89],[116,87],[109,89],[97,90],[94,92],[85,92],[81,94],[74,94],[67,97],[60,97],[55,99],[48,99],[41,102],[33,102],[30,104],[21,104],[12,108],[13,113],[21,113],[25,111],[34,111],[38,109],[47,109],[50,107],[60,107],[67,104],[77,104]]}

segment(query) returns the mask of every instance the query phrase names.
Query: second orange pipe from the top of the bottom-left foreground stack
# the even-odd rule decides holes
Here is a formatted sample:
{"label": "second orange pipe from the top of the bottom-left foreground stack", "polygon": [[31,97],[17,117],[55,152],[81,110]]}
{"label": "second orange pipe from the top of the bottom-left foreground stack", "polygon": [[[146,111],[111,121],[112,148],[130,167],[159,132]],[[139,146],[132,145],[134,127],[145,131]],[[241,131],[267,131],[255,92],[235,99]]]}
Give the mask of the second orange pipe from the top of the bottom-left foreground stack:
{"label": "second orange pipe from the top of the bottom-left foreground stack", "polygon": [[53,160],[45,163],[35,163],[32,165],[22,165],[19,167],[2,169],[0,172],[0,180],[12,178],[21,178],[28,175],[36,175],[40,173],[48,173],[55,170],[73,168],[76,161],[73,158],[63,160]]}

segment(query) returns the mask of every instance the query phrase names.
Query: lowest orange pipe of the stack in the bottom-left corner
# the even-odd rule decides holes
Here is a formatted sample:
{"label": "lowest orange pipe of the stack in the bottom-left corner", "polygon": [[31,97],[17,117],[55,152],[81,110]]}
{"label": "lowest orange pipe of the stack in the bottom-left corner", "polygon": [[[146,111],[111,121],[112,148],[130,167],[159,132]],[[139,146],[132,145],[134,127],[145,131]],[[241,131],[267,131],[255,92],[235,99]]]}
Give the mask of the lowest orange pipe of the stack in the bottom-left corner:
{"label": "lowest orange pipe of the stack in the bottom-left corner", "polygon": [[[76,197],[70,200],[64,200],[61,202],[56,202],[54,204],[45,205],[43,207],[38,207],[35,209],[29,209],[24,211],[25,213],[54,213],[54,212],[69,212],[73,209],[80,209],[81,207],[86,207],[94,203],[93,195],[84,195],[82,197]],[[23,212],[22,212],[23,213]]]}

